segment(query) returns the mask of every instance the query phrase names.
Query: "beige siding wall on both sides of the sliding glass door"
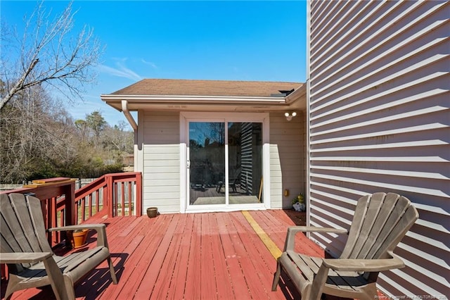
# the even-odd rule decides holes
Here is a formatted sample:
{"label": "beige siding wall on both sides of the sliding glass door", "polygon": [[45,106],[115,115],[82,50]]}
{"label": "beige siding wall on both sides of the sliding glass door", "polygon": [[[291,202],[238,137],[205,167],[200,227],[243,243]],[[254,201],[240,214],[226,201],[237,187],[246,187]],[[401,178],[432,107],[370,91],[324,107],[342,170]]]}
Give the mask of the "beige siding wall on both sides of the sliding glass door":
{"label": "beige siding wall on both sides of the sliding glass door", "polygon": [[[266,182],[270,182],[271,208],[291,208],[293,197],[299,193],[304,194],[304,117],[304,112],[299,111],[288,122],[283,113],[269,115],[270,180]],[[138,161],[137,168],[143,173],[143,210],[156,206],[161,213],[179,213],[179,112],[141,111],[139,120],[139,139],[142,139],[143,146],[142,163]],[[283,196],[284,189],[290,190],[289,196]]]}

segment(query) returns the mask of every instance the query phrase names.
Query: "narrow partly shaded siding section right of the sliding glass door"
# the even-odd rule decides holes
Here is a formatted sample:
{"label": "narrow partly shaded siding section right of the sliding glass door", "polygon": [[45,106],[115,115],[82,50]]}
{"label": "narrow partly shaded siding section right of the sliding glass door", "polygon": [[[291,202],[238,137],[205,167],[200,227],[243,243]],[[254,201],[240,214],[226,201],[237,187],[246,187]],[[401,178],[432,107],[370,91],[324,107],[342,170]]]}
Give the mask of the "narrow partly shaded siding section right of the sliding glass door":
{"label": "narrow partly shaded siding section right of the sliding glass door", "polygon": [[[292,199],[305,192],[306,122],[297,111],[293,120],[283,113],[270,114],[271,208],[292,208]],[[289,189],[289,196],[284,190]]]}

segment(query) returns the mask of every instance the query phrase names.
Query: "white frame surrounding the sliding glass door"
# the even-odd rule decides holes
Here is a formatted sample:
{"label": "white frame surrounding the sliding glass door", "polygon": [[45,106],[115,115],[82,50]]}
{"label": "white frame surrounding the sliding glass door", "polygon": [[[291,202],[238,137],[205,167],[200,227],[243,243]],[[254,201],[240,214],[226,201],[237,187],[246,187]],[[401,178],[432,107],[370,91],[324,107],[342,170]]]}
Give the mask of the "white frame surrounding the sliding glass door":
{"label": "white frame surrounding the sliding glass door", "polygon": [[[188,122],[254,122],[262,123],[262,204],[232,204],[188,206]],[[269,113],[181,112],[180,113],[180,212],[200,213],[215,211],[264,210],[270,208],[270,144]]]}

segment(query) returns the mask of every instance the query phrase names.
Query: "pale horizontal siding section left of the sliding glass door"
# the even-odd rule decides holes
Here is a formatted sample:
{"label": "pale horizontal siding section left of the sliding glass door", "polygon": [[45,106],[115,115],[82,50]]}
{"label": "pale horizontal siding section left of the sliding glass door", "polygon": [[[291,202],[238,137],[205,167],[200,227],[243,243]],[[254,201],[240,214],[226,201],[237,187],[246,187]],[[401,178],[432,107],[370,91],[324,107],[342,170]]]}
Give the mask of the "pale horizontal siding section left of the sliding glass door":
{"label": "pale horizontal siding section left of the sliding glass door", "polygon": [[146,111],[143,118],[143,208],[180,212],[179,113]]}

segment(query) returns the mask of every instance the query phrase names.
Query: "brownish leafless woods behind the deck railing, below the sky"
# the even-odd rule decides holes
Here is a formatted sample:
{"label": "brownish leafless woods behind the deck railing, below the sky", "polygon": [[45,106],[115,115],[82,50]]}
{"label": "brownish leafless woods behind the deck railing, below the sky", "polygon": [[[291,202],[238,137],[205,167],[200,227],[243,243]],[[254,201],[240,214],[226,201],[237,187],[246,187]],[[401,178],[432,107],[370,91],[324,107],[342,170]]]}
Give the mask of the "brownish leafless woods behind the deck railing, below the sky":
{"label": "brownish leafless woods behind the deck railing, below the sky", "polygon": [[[6,93],[0,81],[0,94]],[[133,153],[126,123],[109,125],[99,111],[73,120],[39,85],[15,94],[0,111],[0,181],[99,177],[122,172]]]}

